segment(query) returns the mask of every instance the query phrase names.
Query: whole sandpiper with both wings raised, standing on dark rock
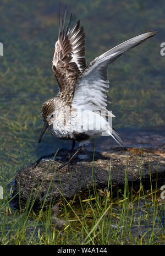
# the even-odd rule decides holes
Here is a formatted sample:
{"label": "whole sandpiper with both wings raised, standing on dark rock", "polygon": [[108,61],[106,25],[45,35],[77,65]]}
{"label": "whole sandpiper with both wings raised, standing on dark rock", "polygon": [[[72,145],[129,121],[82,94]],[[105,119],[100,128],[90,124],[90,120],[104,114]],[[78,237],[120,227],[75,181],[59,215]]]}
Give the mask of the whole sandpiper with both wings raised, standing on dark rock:
{"label": "whole sandpiper with both wings raised, standing on dark rock", "polygon": [[122,143],[108,120],[114,115],[106,108],[106,92],[109,88],[107,69],[124,52],[157,32],[146,32],[120,43],[87,65],[84,28],[80,27],[80,20],[70,28],[72,15],[65,28],[65,13],[62,11],[59,15],[59,34],[52,61],[59,93],[42,105],[44,126],[38,140],[40,143],[48,128],[54,137],[73,141],[71,152],[75,141],[79,141],[75,154],[60,168],[67,165],[91,138],[109,135],[119,144]]}

